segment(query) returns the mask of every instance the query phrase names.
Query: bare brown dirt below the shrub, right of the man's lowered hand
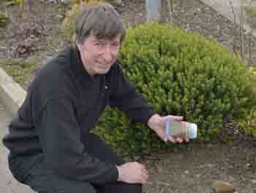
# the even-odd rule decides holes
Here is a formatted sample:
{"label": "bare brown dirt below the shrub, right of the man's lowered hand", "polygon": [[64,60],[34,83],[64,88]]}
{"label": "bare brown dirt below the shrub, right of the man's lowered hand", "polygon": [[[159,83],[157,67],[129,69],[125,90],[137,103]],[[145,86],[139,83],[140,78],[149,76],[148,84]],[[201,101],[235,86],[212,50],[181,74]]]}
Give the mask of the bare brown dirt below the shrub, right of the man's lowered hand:
{"label": "bare brown dirt below the shrub, right of the man's lowered hand", "polygon": [[145,192],[209,193],[211,183],[222,180],[234,184],[239,193],[255,193],[255,148],[255,141],[192,141],[187,149],[150,155],[144,159],[151,174]]}

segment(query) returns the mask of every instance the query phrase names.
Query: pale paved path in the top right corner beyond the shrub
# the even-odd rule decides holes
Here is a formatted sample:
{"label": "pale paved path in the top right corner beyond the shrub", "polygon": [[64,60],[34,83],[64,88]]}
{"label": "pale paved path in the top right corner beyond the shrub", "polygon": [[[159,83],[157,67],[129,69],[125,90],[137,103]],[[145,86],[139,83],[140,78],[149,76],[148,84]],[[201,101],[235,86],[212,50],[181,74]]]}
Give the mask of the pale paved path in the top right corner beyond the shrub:
{"label": "pale paved path in the top right corner beyond the shrub", "polygon": [[[241,17],[241,5],[243,4],[243,1],[249,2],[249,0],[200,0],[203,1],[203,3],[207,4],[209,7],[212,7],[213,9],[217,10],[217,12],[221,13],[225,17],[229,18],[230,20],[234,21],[234,15],[232,12],[232,8],[230,6],[230,1],[232,2],[232,7],[234,8],[234,12],[236,15],[236,23],[240,23],[240,17]],[[252,29],[249,27],[249,25],[244,24],[244,29],[246,32],[252,31]],[[256,31],[253,31],[253,33],[256,36]]]}

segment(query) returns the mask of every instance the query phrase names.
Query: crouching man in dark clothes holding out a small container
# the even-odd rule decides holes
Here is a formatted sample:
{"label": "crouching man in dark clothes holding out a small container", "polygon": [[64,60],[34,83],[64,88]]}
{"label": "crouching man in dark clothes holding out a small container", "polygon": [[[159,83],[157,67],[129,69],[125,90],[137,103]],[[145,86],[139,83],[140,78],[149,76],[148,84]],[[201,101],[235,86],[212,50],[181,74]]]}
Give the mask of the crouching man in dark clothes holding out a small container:
{"label": "crouching man in dark clothes holding out a small container", "polygon": [[116,63],[125,26],[113,7],[85,7],[75,33],[75,45],[38,72],[10,124],[3,140],[10,170],[40,193],[139,193],[148,178],[145,166],[124,162],[89,131],[107,105],[144,122],[162,139],[167,117],[146,104]]}

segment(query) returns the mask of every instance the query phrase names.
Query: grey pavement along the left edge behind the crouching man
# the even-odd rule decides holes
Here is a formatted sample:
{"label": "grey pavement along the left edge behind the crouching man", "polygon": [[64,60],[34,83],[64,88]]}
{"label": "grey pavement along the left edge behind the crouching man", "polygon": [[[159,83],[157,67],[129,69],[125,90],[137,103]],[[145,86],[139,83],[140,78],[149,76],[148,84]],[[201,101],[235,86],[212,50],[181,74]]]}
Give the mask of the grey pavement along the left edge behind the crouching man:
{"label": "grey pavement along the left edge behind the crouching man", "polygon": [[[8,114],[7,109],[0,101],[0,136],[1,140],[4,134],[7,133],[7,126],[10,122],[11,116]],[[23,186],[15,181],[12,177],[7,165],[7,149],[0,141],[0,193],[32,193],[28,186]]]}

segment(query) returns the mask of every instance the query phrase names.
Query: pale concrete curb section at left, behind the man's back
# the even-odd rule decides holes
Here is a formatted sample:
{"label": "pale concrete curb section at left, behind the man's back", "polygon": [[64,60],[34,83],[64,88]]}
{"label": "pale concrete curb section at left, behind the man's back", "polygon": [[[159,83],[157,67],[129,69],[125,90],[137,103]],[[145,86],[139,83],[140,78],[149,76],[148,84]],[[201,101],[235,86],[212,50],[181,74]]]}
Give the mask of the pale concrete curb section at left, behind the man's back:
{"label": "pale concrete curb section at left, behind the man's back", "polygon": [[26,97],[26,91],[0,68],[0,98],[7,110],[15,116]]}

